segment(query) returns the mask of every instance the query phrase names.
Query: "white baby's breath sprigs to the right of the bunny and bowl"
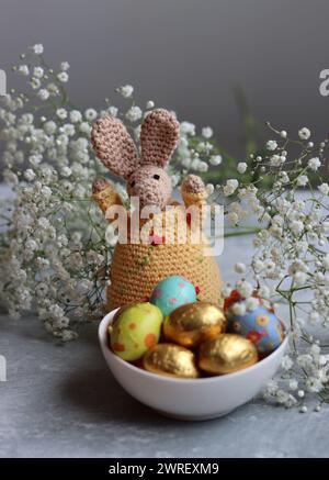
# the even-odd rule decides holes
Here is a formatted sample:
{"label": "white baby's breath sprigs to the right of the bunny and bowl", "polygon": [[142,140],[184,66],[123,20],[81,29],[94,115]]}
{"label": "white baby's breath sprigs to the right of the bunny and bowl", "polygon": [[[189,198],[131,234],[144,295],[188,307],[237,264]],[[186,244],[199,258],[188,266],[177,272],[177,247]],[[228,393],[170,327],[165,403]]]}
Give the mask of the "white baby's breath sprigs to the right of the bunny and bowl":
{"label": "white baby's breath sprigs to the right of the bunny and bowl", "polygon": [[249,275],[250,282],[227,284],[223,295],[229,297],[235,288],[246,298],[243,304],[249,304],[258,291],[276,311],[282,309],[292,351],[284,358],[282,381],[271,382],[265,398],[285,406],[298,405],[304,413],[307,398],[318,397],[317,411],[329,401],[328,345],[315,335],[316,327],[324,333],[329,327],[329,187],[321,177],[328,138],[315,145],[306,142],[311,135],[306,127],[293,139],[268,126],[277,139],[266,143],[263,157],[252,157],[249,168],[256,180],[239,177],[239,186],[229,190],[232,199],[227,186],[217,189],[218,202],[227,198],[228,220],[235,215],[231,223],[242,224],[250,214],[257,223],[252,257],[248,265],[235,265],[235,271]]}

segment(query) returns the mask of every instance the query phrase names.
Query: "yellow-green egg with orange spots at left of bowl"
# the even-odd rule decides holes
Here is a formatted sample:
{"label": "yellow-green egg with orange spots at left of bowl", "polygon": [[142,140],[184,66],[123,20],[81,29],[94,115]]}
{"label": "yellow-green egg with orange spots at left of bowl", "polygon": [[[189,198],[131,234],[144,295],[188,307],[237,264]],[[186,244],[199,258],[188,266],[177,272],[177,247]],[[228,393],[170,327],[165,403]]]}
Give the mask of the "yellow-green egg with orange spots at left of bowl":
{"label": "yellow-green egg with orange spots at left of bowl", "polygon": [[151,303],[123,306],[109,328],[112,350],[123,360],[138,360],[159,342],[162,321],[160,309]]}

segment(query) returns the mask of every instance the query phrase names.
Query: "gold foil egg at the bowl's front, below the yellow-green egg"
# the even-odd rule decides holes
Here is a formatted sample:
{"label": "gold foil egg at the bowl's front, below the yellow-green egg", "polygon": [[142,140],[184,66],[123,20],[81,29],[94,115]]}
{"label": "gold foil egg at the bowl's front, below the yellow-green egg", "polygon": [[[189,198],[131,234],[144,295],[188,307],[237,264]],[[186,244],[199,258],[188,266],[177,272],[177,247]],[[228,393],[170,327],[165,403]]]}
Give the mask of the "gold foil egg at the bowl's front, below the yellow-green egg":
{"label": "gold foil egg at the bowl's front, below the yellow-green egg", "polygon": [[143,359],[144,368],[166,377],[197,378],[193,351],[174,344],[158,344],[150,348]]}

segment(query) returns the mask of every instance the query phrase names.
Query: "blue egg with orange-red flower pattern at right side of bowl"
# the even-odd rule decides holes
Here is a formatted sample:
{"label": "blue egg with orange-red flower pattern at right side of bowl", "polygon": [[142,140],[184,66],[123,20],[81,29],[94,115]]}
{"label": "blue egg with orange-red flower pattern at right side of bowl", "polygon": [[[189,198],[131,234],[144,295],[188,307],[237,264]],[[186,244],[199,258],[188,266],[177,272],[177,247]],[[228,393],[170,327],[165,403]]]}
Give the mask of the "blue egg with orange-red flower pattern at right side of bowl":
{"label": "blue egg with orange-red flower pattern at right side of bowl", "polygon": [[274,313],[259,305],[245,315],[229,316],[229,331],[235,332],[254,343],[260,354],[275,350],[284,338],[284,328]]}

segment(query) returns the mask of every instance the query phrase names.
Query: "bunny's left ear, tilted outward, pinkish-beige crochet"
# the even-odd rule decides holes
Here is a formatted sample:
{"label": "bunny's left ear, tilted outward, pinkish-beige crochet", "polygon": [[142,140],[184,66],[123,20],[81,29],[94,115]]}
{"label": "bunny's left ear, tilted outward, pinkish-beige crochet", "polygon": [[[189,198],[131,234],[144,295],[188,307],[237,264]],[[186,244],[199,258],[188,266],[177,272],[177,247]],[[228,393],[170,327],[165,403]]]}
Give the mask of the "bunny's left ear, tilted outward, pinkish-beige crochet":
{"label": "bunny's left ear, tilted outward, pinkish-beige crochet", "polygon": [[91,143],[97,156],[113,174],[127,179],[138,165],[135,144],[123,123],[112,116],[92,125]]}

